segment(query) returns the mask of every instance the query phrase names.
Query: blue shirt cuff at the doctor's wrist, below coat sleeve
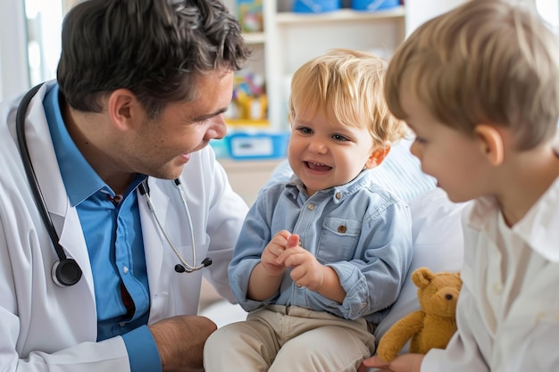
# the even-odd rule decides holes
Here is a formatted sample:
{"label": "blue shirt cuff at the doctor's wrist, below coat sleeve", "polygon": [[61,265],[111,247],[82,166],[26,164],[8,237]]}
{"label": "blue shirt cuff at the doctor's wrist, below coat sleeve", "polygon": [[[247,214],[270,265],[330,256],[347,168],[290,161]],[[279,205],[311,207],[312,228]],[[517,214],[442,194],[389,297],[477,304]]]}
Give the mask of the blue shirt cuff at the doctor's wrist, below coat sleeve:
{"label": "blue shirt cuff at the doctor's wrist, below coat sleeve", "polygon": [[138,327],[122,335],[122,339],[128,351],[130,372],[162,372],[159,351],[149,327]]}

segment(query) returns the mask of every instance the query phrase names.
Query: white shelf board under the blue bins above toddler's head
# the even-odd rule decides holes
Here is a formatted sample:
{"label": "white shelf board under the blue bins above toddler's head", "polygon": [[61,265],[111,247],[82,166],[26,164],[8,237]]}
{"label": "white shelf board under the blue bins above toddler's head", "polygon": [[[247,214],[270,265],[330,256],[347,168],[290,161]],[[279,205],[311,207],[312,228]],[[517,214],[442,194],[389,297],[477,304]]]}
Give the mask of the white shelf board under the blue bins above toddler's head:
{"label": "white shelf board under the blue bins above toddler's head", "polygon": [[296,12],[279,12],[276,15],[278,24],[292,23],[311,23],[311,22],[330,22],[330,21],[368,21],[368,20],[385,20],[405,17],[405,7],[398,6],[396,8],[387,9],[378,12],[357,12],[351,9],[340,9],[335,12],[323,13],[296,13]]}

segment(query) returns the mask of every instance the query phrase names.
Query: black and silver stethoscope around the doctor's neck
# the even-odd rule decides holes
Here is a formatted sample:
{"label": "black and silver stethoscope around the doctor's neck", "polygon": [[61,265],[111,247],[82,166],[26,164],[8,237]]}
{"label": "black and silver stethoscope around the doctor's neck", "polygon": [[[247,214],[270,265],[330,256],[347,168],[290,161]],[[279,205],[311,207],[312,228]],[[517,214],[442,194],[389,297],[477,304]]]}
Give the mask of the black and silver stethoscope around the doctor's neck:
{"label": "black and silver stethoscope around the doctor's neck", "polygon": [[[21,99],[20,104],[18,105],[18,109],[15,116],[15,129],[16,135],[18,139],[18,145],[20,147],[21,153],[21,161],[23,162],[23,168],[25,169],[25,173],[29,180],[29,185],[31,186],[31,191],[33,193],[33,198],[38,206],[38,211],[41,215],[41,219],[43,219],[43,223],[46,226],[46,230],[48,231],[48,236],[50,236],[51,242],[54,245],[54,251],[58,256],[58,260],[54,262],[52,271],[53,281],[57,285],[61,286],[70,286],[75,285],[79,282],[79,279],[82,276],[82,271],[79,268],[79,264],[76,260],[72,259],[71,257],[66,256],[66,253],[63,250],[63,247],[58,243],[59,236],[54,228],[53,219],[51,219],[50,215],[48,214],[48,209],[46,208],[46,202],[43,194],[41,193],[41,188],[38,184],[37,175],[35,174],[35,169],[33,169],[33,163],[31,162],[31,157],[29,156],[29,147],[27,145],[27,138],[25,136],[25,113],[29,107],[29,102],[36,95],[38,89],[42,86],[39,84],[36,87],[33,87],[27,92],[23,98]],[[189,265],[188,262],[182,257],[179,250],[172,243],[171,238],[167,235],[165,229],[163,228],[159,218],[157,217],[157,213],[154,209],[154,204],[151,201],[149,196],[149,186],[147,185],[147,179],[144,180],[139,186],[138,191],[140,194],[146,197],[147,205],[149,210],[154,215],[155,222],[157,223],[157,227],[162,232],[165,240],[171,245],[173,252],[177,255],[180,260],[180,264],[175,265],[175,271],[178,273],[183,272],[194,272],[199,269],[204,269],[207,266],[212,264],[212,259],[205,258],[202,260],[200,265],[196,266],[196,239],[194,237],[194,229],[192,227],[192,219],[190,218],[190,212],[188,211],[188,203],[187,198],[182,188],[180,187],[179,179],[175,179],[173,181],[173,185],[179,190],[180,198],[182,200],[182,205],[184,210],[187,213],[188,217],[188,225],[190,227],[190,236],[192,239],[192,260],[194,262],[193,265]]]}

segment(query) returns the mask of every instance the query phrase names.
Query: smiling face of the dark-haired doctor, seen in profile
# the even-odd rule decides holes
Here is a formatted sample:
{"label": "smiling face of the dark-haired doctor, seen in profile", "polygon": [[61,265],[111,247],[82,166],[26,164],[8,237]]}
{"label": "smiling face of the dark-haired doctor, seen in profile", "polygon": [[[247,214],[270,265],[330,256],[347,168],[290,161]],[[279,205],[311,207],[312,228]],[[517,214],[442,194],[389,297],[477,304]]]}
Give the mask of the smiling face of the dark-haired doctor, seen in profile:
{"label": "smiling face of the dark-haired doctor, seen in profile", "polygon": [[210,71],[196,79],[196,98],[170,103],[157,120],[144,115],[129,144],[135,171],[178,178],[191,153],[226,135],[223,112],[232,96],[233,72]]}

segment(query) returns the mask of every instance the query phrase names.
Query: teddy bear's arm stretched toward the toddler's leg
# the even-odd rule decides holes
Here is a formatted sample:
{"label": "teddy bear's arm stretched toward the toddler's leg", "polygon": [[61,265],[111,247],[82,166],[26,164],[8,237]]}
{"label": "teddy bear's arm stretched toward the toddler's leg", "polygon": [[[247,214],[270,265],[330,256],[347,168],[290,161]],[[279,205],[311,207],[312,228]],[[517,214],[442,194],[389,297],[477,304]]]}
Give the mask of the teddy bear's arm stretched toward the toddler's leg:
{"label": "teddy bear's arm stretched toward the toddler's leg", "polygon": [[404,318],[398,320],[390,327],[379,342],[377,354],[382,360],[392,361],[402,350],[405,343],[417,335],[423,327],[425,313],[421,310],[413,311]]}

